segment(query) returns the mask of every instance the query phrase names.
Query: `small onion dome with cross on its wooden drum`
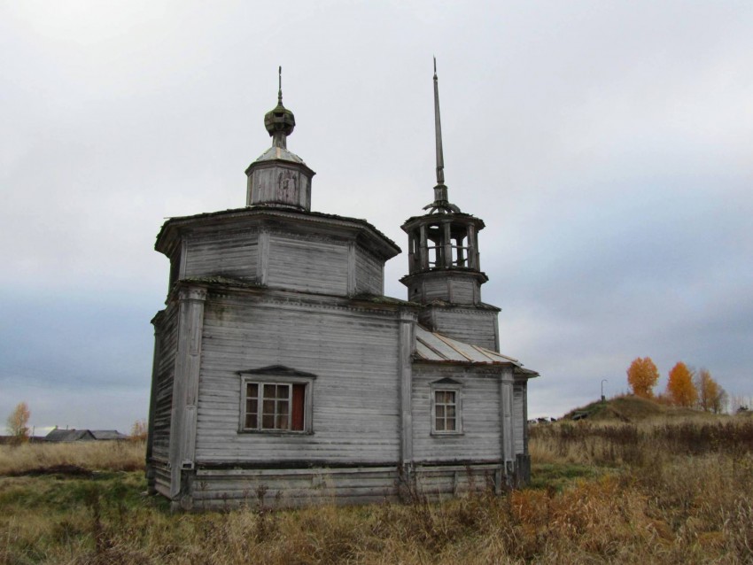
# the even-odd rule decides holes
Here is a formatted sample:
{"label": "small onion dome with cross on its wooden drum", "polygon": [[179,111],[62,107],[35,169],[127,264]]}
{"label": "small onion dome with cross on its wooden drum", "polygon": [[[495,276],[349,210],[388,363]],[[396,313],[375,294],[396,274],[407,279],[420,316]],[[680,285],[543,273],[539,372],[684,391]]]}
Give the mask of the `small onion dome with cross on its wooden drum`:
{"label": "small onion dome with cross on its wooden drum", "polygon": [[311,210],[311,179],[314,176],[306,163],[288,151],[288,135],[296,120],[283,105],[283,67],[278,70],[277,105],[264,115],[264,128],[272,137],[272,146],[245,170],[247,206],[275,206],[309,212]]}

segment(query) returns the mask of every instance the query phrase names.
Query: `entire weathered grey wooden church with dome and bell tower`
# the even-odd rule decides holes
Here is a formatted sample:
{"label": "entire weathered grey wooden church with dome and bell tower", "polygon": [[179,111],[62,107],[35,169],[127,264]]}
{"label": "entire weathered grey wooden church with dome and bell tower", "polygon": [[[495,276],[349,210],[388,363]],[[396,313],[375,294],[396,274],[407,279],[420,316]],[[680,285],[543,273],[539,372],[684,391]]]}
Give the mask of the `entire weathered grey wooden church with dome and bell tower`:
{"label": "entire weathered grey wooden church with dome and bell tower", "polygon": [[155,329],[147,477],[175,508],[293,507],[524,483],[527,381],[481,300],[484,222],[450,204],[434,74],[437,186],[408,234],[408,300],[384,296],[400,248],[364,220],[311,211],[312,171],[272,146],[243,208],[172,218]]}

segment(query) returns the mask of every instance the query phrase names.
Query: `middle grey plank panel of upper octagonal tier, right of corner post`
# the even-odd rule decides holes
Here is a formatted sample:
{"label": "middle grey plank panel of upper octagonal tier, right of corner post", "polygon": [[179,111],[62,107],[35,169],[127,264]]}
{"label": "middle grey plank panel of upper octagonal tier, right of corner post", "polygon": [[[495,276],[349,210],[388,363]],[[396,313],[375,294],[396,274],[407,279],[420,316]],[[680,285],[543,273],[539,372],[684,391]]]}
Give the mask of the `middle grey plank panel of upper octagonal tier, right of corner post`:
{"label": "middle grey plank panel of upper octagonal tier, right of corner post", "polygon": [[346,243],[308,241],[270,234],[268,271],[270,287],[348,294]]}

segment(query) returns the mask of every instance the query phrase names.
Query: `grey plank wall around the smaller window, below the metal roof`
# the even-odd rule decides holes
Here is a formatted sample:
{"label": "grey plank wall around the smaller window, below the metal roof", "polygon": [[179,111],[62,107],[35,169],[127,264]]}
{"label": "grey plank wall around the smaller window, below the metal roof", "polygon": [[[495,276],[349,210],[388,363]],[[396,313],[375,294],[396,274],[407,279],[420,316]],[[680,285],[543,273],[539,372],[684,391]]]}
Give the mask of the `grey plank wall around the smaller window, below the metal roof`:
{"label": "grey plank wall around the smaller window, below the metal roof", "polygon": [[[431,383],[450,377],[462,383],[462,435],[431,435]],[[413,366],[413,455],[419,462],[499,461],[500,383],[472,369]]]}

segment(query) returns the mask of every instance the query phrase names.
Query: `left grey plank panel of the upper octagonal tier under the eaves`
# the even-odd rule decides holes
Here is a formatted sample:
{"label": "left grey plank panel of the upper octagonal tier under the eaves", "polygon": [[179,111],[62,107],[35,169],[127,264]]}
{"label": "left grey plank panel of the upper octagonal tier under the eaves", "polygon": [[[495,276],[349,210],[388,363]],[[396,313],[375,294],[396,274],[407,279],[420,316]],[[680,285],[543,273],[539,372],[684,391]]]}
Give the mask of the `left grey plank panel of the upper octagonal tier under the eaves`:
{"label": "left grey plank panel of the upper octagonal tier under the eaves", "polygon": [[256,231],[215,231],[186,241],[185,277],[222,275],[239,279],[257,277]]}

